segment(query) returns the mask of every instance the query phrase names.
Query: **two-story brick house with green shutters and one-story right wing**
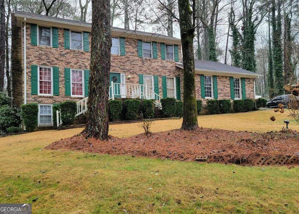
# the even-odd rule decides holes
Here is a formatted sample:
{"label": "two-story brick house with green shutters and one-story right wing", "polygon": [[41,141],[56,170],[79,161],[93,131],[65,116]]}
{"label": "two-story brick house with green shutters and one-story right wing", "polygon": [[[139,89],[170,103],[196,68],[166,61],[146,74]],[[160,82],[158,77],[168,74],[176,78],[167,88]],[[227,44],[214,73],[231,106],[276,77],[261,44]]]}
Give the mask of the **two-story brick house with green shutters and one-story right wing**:
{"label": "two-story brick house with green shutters and one-story right wing", "polygon": [[[52,126],[52,106],[77,102],[86,110],[91,23],[16,11],[12,14],[13,105],[38,104],[38,126]],[[110,98],[182,97],[181,40],[111,28]],[[254,98],[257,74],[196,61],[197,99]]]}

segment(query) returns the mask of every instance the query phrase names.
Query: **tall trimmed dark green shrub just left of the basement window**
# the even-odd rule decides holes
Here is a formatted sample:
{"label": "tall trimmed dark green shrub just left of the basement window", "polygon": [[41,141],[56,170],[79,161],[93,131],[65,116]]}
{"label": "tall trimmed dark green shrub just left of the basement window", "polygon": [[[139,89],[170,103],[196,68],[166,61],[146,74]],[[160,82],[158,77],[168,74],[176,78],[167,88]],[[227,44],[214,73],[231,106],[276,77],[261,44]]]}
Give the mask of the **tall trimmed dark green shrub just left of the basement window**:
{"label": "tall trimmed dark green shrub just left of the basement window", "polygon": [[38,105],[34,103],[29,103],[21,106],[22,109],[22,119],[26,126],[26,130],[32,132],[35,130],[37,125],[38,117]]}

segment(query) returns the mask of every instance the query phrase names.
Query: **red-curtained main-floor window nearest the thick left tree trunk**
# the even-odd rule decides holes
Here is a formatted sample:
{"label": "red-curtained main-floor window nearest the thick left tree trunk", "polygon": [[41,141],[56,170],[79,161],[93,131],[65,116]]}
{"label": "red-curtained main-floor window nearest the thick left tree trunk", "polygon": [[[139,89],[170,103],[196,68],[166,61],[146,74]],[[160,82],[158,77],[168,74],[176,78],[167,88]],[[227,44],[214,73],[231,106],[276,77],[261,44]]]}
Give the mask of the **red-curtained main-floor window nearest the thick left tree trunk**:
{"label": "red-curtained main-floor window nearest the thick left tree trunk", "polygon": [[83,96],[83,70],[71,69],[71,95]]}

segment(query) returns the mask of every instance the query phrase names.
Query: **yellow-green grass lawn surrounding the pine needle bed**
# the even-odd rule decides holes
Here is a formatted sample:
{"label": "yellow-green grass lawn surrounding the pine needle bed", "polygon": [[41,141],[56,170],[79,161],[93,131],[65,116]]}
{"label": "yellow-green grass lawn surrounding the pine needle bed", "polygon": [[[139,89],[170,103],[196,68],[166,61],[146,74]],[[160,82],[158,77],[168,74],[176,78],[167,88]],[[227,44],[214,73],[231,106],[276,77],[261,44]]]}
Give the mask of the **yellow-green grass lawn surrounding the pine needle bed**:
{"label": "yellow-green grass lawn surrounding the pine needle bed", "polygon": [[[275,114],[207,115],[199,116],[199,123],[230,130],[280,130],[284,118],[272,122],[270,115]],[[179,128],[180,123],[156,121],[152,131]],[[81,130],[0,138],[1,203],[32,203],[33,213],[298,212],[298,167],[200,164],[44,149]],[[109,131],[119,137],[142,132],[137,124],[111,125]]]}

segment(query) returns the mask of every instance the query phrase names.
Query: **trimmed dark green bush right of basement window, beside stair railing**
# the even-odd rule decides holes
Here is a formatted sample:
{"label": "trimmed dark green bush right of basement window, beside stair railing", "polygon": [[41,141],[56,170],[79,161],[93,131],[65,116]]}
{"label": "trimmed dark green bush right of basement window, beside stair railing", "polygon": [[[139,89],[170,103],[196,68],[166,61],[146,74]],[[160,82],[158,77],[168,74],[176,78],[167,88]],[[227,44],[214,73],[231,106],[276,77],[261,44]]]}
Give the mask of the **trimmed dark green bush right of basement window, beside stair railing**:
{"label": "trimmed dark green bush right of basement window, beside stair railing", "polygon": [[77,113],[77,104],[75,101],[60,102],[61,120],[64,126],[69,126],[74,123]]}

